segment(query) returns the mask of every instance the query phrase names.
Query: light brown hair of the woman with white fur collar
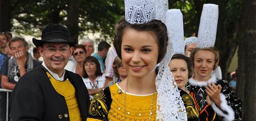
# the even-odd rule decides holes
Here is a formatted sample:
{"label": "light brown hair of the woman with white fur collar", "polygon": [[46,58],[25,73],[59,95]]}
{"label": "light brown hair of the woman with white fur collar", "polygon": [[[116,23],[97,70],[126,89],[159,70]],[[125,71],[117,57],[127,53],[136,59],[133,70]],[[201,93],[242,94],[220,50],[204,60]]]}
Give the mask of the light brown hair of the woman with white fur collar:
{"label": "light brown hair of the woman with white fur collar", "polygon": [[190,53],[190,59],[191,59],[191,62],[192,62],[192,67],[195,68],[194,66],[194,60],[195,60],[195,53],[198,51],[198,50],[207,50],[207,51],[210,51],[214,54],[214,67],[213,67],[213,70],[215,70],[217,67],[218,67],[218,64],[219,64],[219,60],[220,60],[220,52],[217,48],[215,47],[210,47],[210,48],[195,48],[191,51]]}

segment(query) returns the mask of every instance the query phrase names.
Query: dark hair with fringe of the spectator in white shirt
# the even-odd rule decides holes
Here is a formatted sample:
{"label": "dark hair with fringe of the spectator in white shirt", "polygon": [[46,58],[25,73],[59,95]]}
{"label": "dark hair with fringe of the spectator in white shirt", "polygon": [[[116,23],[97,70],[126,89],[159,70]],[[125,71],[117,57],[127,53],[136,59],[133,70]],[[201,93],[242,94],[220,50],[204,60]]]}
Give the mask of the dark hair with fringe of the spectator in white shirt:
{"label": "dark hair with fringe of the spectator in white shirt", "polygon": [[85,69],[84,69],[85,63],[87,63],[87,62],[94,62],[96,64],[96,72],[95,72],[96,77],[102,75],[101,65],[100,65],[99,61],[94,56],[88,56],[88,57],[85,58],[84,64],[83,64],[83,76],[82,76],[83,78],[88,78],[89,77],[88,74],[86,73]]}

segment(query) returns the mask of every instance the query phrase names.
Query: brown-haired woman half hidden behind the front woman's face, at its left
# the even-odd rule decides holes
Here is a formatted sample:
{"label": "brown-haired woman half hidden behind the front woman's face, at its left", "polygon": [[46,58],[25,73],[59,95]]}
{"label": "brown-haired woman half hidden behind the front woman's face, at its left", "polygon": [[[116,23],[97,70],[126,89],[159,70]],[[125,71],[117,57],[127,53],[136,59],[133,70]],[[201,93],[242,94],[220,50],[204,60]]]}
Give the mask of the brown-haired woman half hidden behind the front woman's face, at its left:
{"label": "brown-haired woman half hidden behind the front woman's face, at its left", "polygon": [[117,82],[125,80],[128,76],[126,69],[123,67],[122,60],[116,56],[113,62],[114,80],[108,82],[108,86],[114,85]]}

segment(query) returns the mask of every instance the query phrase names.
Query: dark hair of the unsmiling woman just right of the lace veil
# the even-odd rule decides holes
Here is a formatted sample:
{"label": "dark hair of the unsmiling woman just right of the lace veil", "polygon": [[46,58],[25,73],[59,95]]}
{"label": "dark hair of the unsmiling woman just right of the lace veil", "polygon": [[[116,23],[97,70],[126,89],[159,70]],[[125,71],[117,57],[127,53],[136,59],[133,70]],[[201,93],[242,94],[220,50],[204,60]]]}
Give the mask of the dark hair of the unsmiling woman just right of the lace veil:
{"label": "dark hair of the unsmiling woman just right of the lace veil", "polygon": [[186,61],[187,67],[188,67],[188,71],[189,71],[189,78],[191,78],[193,72],[192,72],[192,68],[191,68],[191,61],[190,61],[190,58],[187,57],[187,56],[185,56],[184,54],[174,54],[174,55],[172,56],[172,59],[171,59],[171,60],[173,60],[173,59],[182,59],[182,60],[185,60],[185,61]]}

